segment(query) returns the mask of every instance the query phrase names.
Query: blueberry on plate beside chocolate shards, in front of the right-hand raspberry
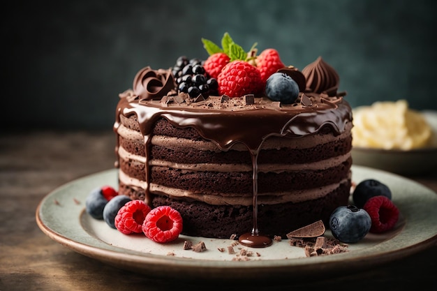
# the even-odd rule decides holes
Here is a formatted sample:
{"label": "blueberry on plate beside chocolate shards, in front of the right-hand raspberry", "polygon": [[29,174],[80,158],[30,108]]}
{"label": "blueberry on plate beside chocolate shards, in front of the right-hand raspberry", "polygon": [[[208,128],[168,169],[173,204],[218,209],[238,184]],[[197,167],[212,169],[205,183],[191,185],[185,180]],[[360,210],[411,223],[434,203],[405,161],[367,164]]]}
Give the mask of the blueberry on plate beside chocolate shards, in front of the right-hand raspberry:
{"label": "blueberry on plate beside chocolate shards, in front of the right-hand raspberry", "polygon": [[360,241],[369,232],[371,218],[367,211],[354,205],[337,207],[329,217],[332,235],[346,244]]}

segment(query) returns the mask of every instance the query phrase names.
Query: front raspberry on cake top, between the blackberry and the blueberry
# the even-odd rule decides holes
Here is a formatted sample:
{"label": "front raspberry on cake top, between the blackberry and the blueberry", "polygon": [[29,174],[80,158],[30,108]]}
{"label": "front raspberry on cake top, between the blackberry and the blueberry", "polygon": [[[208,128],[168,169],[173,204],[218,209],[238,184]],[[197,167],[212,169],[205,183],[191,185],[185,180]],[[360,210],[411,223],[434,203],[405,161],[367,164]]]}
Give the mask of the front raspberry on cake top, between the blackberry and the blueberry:
{"label": "front raspberry on cake top, between the blackberry and the blueberry", "polygon": [[264,85],[260,71],[246,61],[231,61],[217,77],[218,91],[229,97],[260,94]]}

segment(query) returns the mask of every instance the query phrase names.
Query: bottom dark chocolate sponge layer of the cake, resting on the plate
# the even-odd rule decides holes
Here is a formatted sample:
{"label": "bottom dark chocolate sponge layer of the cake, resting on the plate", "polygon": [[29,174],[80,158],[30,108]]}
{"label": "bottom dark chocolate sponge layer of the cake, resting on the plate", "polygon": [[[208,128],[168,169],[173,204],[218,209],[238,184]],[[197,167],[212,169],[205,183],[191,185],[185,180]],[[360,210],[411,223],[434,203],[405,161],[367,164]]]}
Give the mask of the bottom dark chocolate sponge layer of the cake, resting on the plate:
{"label": "bottom dark chocolate sponge layer of the cake, resting on the plate", "polygon": [[[258,205],[258,226],[271,237],[286,234],[319,219],[327,223],[332,211],[347,204],[350,181],[345,181],[327,195],[316,200]],[[183,234],[228,239],[231,234],[243,234],[253,227],[253,207],[238,204],[212,205],[187,199],[153,195],[152,204],[170,205],[183,214]]]}

